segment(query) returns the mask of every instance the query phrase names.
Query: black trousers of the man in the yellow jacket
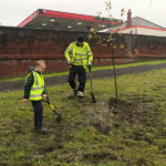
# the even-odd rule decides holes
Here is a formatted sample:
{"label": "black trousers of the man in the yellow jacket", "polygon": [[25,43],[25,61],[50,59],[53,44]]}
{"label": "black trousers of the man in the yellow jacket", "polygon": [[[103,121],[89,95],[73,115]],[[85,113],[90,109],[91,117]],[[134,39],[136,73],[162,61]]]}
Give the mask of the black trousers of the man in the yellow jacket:
{"label": "black trousers of the man in the yellow jacket", "polygon": [[[80,83],[79,87],[76,86],[76,83],[75,83],[76,74],[79,76],[79,83]],[[77,91],[84,92],[85,83],[86,83],[85,69],[82,65],[72,65],[70,68],[70,74],[68,77],[68,82],[73,90],[77,87]]]}

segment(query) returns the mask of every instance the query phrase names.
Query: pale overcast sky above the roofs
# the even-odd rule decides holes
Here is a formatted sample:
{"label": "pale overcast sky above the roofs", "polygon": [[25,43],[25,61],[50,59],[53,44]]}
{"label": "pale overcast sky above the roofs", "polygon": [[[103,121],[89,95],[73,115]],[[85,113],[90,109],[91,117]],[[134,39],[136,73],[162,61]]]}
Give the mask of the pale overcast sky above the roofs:
{"label": "pale overcast sky above the roofs", "polygon": [[[107,0],[0,0],[0,24],[18,25],[38,9],[96,15],[105,13]],[[166,28],[166,0],[111,0],[112,14],[121,18],[121,9],[132,10],[132,17],[141,17]]]}

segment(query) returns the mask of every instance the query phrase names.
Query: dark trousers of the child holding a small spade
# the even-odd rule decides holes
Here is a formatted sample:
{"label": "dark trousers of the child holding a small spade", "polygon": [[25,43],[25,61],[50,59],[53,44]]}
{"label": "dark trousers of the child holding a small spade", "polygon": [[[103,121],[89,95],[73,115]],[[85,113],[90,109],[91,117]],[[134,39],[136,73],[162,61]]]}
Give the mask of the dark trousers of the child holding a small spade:
{"label": "dark trousers of the child holding a small spade", "polygon": [[43,125],[43,105],[42,101],[32,101],[34,111],[34,127],[41,128]]}

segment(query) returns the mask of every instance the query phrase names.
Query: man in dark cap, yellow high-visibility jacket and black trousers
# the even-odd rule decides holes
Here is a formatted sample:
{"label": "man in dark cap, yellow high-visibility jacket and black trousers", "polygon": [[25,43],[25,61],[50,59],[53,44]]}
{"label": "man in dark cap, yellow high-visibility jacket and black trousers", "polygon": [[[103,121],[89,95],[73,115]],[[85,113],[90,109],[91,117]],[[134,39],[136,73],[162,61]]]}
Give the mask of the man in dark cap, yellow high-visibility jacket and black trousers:
{"label": "man in dark cap, yellow high-visibility jacket and black trousers", "polygon": [[[74,96],[80,101],[84,97],[84,87],[86,83],[85,70],[92,65],[93,54],[87,42],[84,42],[84,35],[79,34],[75,42],[71,43],[65,51],[65,58],[70,65],[70,74],[68,82],[73,89]],[[75,75],[79,76],[79,87],[75,83]]]}

